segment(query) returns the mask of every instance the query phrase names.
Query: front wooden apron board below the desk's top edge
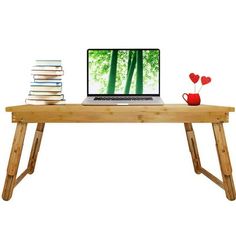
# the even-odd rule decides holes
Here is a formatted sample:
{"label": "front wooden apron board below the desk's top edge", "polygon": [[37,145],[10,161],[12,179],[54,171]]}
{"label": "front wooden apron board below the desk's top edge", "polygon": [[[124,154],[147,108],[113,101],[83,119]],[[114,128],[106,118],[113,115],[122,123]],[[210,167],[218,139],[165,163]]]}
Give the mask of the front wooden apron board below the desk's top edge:
{"label": "front wooden apron board below the desk's top edge", "polygon": [[211,123],[228,122],[225,113],[169,112],[20,112],[12,114],[12,122],[27,123]]}

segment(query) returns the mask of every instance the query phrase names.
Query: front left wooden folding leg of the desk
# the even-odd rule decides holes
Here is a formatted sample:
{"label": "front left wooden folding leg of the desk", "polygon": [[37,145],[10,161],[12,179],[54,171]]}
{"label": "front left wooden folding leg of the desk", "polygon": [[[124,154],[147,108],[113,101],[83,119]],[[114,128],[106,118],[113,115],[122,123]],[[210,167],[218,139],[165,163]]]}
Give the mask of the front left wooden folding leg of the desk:
{"label": "front left wooden folding leg of the desk", "polygon": [[12,196],[16,183],[17,171],[20,163],[21,152],[23,149],[27,123],[17,123],[15,136],[13,139],[11,154],[7,167],[7,175],[2,192],[2,198],[9,200]]}

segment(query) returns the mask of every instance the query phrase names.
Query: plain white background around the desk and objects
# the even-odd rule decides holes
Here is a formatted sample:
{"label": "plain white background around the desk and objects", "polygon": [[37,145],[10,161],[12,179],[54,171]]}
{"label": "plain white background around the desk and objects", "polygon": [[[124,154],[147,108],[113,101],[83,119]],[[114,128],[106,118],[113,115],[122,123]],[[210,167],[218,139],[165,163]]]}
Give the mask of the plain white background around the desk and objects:
{"label": "plain white background around the desk and objects", "polygon": [[[86,50],[161,49],[161,91],[183,103],[190,72],[212,77],[202,103],[236,105],[234,1],[1,1],[0,190],[35,59],[61,59],[67,102],[86,95]],[[209,124],[195,125],[204,167],[220,177]],[[20,171],[35,126],[29,125]],[[225,125],[236,180],[236,116]],[[30,139],[31,138],[31,139]],[[235,229],[236,202],[196,175],[181,124],[49,124],[34,175],[0,200],[0,235],[214,235]]]}

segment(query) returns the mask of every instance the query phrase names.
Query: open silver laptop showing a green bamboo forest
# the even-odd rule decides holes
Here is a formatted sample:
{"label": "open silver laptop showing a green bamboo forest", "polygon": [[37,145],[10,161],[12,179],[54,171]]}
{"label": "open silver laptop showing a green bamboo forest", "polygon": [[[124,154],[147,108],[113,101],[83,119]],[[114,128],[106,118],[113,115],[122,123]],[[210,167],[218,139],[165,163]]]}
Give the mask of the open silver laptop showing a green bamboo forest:
{"label": "open silver laptop showing a green bamboo forest", "polygon": [[159,49],[88,49],[83,105],[162,105]]}

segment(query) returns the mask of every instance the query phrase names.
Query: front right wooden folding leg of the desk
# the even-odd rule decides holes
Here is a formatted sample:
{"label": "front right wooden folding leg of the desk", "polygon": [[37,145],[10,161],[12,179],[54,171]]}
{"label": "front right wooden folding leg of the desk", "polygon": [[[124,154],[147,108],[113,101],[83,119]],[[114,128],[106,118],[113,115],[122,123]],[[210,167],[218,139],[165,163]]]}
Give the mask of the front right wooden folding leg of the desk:
{"label": "front right wooden folding leg of the desk", "polygon": [[222,123],[213,123],[212,126],[215,135],[216,148],[219,157],[220,169],[223,178],[223,187],[226,193],[226,197],[229,200],[235,200],[236,193],[224,127]]}

